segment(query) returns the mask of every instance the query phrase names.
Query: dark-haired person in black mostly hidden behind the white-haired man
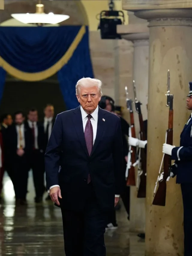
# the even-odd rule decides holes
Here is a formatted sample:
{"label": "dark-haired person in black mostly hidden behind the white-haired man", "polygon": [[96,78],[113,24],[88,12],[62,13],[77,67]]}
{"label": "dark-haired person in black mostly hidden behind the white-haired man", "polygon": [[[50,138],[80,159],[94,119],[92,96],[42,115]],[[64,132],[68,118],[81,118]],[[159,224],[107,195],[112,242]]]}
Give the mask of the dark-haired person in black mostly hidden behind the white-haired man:
{"label": "dark-haired person in black mostly hidden behind the white-haired man", "polygon": [[[115,109],[121,109],[120,106],[116,106],[115,108],[115,102],[114,100],[109,97],[109,96],[102,96],[101,101],[99,102],[99,107],[101,107],[104,110],[107,110],[111,113],[115,113]],[[116,114],[118,115],[118,114]],[[120,121],[121,121],[121,130],[122,130],[122,143],[123,143],[123,169],[124,173],[122,173],[123,177],[123,189],[121,193],[121,198],[123,201],[123,204],[125,206],[126,212],[128,214],[128,220],[129,220],[129,212],[130,212],[130,187],[126,185],[126,180],[125,180],[125,171],[126,171],[126,166],[127,166],[127,160],[128,160],[128,142],[126,136],[129,134],[129,124],[126,122],[125,119],[123,119],[121,116]],[[106,230],[108,229],[116,229],[118,227],[117,222],[116,222],[116,211],[113,210],[111,213],[111,216],[109,218],[109,223],[107,224]]]}

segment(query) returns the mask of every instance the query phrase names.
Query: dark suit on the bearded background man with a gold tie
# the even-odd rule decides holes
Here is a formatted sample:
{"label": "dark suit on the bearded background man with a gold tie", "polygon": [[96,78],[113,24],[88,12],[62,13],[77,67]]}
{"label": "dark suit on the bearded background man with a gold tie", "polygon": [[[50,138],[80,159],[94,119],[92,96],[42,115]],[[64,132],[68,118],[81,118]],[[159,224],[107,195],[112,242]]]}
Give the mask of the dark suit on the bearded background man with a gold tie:
{"label": "dark suit on the bearded background man with a gold tie", "polygon": [[32,132],[28,125],[24,124],[25,148],[24,155],[18,156],[18,136],[16,125],[13,124],[7,128],[5,151],[9,168],[13,174],[13,186],[15,198],[26,200],[28,173],[30,169],[30,157],[32,154]]}

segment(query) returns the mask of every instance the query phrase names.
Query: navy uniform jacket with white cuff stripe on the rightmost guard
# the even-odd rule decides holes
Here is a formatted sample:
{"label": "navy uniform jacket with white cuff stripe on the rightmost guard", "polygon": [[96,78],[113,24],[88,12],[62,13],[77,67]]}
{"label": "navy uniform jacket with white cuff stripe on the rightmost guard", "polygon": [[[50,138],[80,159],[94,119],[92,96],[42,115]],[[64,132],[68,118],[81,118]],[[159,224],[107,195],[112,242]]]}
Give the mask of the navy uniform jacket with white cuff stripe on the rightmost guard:
{"label": "navy uniform jacket with white cuff stripe on the rightmost guard", "polygon": [[177,175],[176,183],[192,183],[192,118],[185,124],[180,136],[180,147],[172,149],[175,164],[173,173]]}

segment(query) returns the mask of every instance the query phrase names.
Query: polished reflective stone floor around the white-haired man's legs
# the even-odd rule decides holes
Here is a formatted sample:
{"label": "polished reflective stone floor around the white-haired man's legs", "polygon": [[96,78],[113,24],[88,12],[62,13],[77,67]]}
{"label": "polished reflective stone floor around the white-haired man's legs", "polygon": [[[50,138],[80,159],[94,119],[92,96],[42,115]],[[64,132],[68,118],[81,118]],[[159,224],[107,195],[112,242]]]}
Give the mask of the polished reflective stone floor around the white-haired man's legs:
{"label": "polished reflective stone floor around the white-haired man's legs", "polygon": [[[14,205],[10,179],[4,177],[4,203],[0,205],[0,256],[64,256],[61,211],[52,203],[33,203],[30,173],[28,206]],[[46,196],[46,194],[45,194]],[[144,241],[129,233],[123,207],[117,211],[118,229],[105,233],[107,256],[144,256]]]}

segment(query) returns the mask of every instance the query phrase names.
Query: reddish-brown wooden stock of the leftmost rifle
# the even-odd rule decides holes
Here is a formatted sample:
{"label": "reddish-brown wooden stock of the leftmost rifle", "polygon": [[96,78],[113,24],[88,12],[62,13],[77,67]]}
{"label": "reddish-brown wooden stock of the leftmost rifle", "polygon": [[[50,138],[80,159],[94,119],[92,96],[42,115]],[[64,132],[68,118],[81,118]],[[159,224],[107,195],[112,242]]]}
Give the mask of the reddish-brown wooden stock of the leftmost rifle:
{"label": "reddish-brown wooden stock of the leftmost rifle", "polygon": [[[130,121],[131,121],[131,136],[136,137],[135,135],[135,126],[134,126],[134,115],[133,112],[130,112]],[[132,146],[131,147],[131,168],[129,169],[128,177],[127,177],[127,186],[135,186],[136,181],[135,181],[135,167],[133,164],[136,162],[136,155],[135,155],[135,148]]]}

